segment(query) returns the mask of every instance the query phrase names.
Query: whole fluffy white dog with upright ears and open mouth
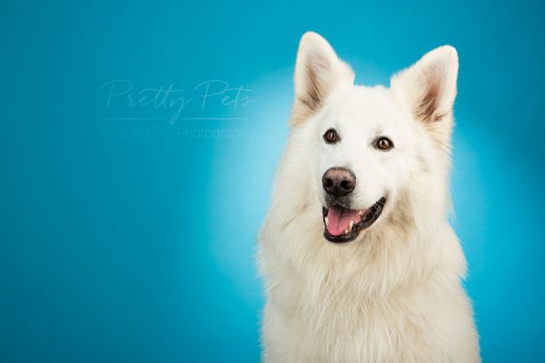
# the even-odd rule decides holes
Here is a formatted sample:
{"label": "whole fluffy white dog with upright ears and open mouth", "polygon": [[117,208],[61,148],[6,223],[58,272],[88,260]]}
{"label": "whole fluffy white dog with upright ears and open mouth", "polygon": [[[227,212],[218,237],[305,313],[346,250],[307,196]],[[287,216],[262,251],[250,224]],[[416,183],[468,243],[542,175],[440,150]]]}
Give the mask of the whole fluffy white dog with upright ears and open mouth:
{"label": "whole fluffy white dog with upright ears and open mouth", "polygon": [[353,84],[302,36],[291,132],[260,236],[263,362],[480,362],[448,221],[458,55]]}

